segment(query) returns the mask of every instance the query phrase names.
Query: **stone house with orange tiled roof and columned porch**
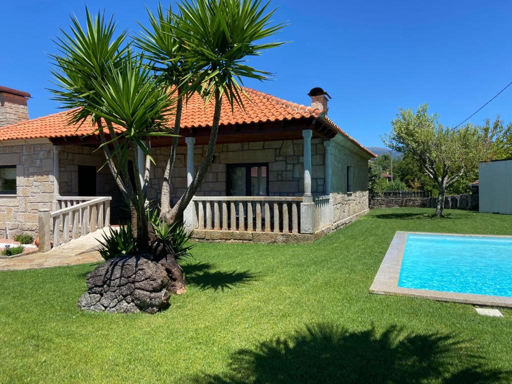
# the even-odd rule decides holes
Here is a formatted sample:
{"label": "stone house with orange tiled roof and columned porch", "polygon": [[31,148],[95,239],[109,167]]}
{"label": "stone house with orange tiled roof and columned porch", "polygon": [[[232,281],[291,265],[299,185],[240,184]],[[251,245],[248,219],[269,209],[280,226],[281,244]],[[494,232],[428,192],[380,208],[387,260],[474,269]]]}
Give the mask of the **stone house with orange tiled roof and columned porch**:
{"label": "stone house with orange tiled roof and columned porch", "polygon": [[[325,92],[312,89],[311,106],[304,106],[245,91],[245,110],[223,105],[214,162],[185,211],[194,237],[308,242],[366,214],[375,155],[327,117]],[[108,167],[101,168],[93,127],[67,125],[67,111],[28,120],[29,98],[0,88],[0,236],[53,232],[59,245],[122,220],[123,202]],[[213,105],[199,96],[184,108],[173,202],[201,164],[212,115]],[[160,198],[170,140],[151,140],[156,166],[148,199]]]}

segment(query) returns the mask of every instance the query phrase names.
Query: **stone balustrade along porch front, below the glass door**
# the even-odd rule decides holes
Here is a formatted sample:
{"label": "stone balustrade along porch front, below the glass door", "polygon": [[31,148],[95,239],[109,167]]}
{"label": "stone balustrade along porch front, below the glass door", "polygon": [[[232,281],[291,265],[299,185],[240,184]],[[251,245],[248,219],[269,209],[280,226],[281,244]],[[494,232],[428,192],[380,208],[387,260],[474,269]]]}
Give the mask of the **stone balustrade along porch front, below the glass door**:
{"label": "stone balustrade along porch front, below the glass door", "polygon": [[302,197],[194,197],[199,230],[298,233]]}

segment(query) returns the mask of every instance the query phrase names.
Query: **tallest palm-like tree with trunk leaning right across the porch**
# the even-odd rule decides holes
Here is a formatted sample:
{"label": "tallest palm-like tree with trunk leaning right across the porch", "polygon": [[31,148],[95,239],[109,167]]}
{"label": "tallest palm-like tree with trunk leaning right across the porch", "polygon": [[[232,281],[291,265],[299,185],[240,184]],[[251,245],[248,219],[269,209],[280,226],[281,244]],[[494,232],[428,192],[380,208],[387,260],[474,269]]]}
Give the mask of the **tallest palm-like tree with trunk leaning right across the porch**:
{"label": "tallest palm-like tree with trunk leaning right across the porch", "polygon": [[[272,25],[275,9],[267,12],[269,3],[261,0],[185,0],[179,4],[179,14],[168,24],[185,47],[182,52],[189,78],[188,91],[199,92],[205,103],[214,102],[214,116],[206,156],[193,181],[176,205],[162,212],[164,219],[173,223],[181,220],[183,211],[196,193],[214,156],[222,99],[233,108],[243,108],[243,77],[259,80],[271,74],[247,65],[246,58],[260,55],[266,49],[279,47],[283,42],[260,42],[268,39],[285,24]],[[195,74],[198,74],[197,76]]]}

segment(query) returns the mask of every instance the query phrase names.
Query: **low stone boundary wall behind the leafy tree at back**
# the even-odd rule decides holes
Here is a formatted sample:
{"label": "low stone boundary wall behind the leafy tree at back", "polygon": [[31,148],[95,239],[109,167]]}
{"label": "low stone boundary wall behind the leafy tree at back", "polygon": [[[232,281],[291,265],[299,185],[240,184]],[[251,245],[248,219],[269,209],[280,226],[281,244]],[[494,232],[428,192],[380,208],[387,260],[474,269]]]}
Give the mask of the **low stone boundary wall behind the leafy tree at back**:
{"label": "low stone boundary wall behind the leafy tree at back", "polygon": [[[435,208],[436,206],[436,197],[370,197],[370,209],[397,207]],[[478,210],[478,194],[445,196],[444,208]]]}

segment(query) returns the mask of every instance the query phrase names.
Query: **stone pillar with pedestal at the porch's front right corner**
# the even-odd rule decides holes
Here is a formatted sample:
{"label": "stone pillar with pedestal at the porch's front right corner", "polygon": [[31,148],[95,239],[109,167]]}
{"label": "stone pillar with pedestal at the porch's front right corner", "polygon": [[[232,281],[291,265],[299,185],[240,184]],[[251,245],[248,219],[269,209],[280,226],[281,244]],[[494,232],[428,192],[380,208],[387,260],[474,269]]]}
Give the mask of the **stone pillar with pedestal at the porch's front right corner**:
{"label": "stone pillar with pedestal at the porch's front right corner", "polygon": [[303,130],[304,137],[304,197],[301,203],[301,233],[315,231],[315,203],[311,195],[311,136],[313,131]]}

